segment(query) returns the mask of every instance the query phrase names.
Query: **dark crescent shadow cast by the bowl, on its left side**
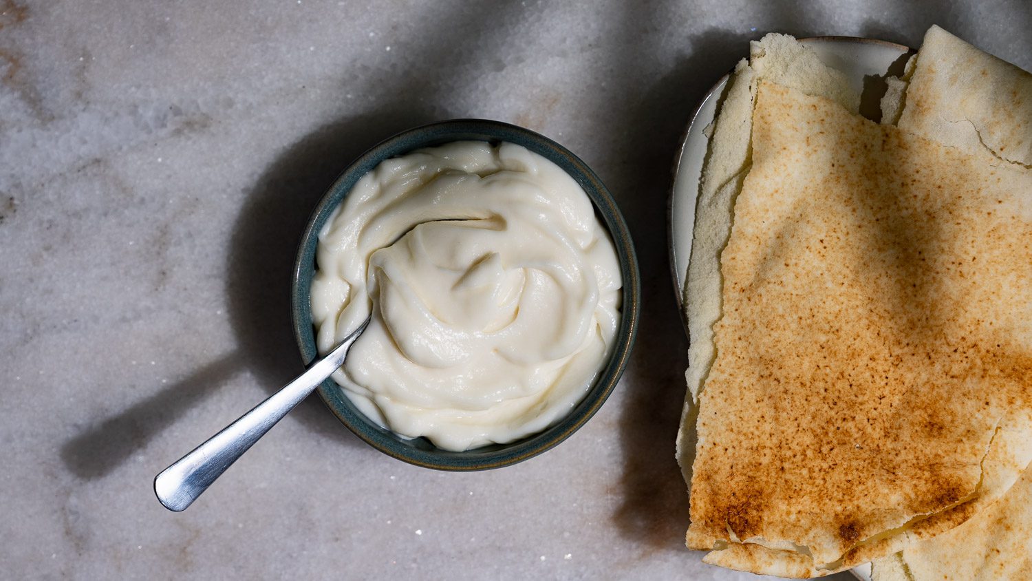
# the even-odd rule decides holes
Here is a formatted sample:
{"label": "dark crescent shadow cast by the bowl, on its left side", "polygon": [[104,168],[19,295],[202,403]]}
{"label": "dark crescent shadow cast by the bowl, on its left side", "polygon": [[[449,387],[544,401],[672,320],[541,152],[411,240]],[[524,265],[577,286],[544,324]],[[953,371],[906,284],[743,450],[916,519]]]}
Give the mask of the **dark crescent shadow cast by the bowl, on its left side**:
{"label": "dark crescent shadow cast by the bowl, on its left side", "polygon": [[[326,125],[288,148],[248,196],[233,228],[226,293],[248,367],[270,394],[303,370],[292,331],[290,285],[297,244],[316,204],[367,149],[431,121],[406,103]],[[318,396],[291,416],[320,434],[361,444]]]}

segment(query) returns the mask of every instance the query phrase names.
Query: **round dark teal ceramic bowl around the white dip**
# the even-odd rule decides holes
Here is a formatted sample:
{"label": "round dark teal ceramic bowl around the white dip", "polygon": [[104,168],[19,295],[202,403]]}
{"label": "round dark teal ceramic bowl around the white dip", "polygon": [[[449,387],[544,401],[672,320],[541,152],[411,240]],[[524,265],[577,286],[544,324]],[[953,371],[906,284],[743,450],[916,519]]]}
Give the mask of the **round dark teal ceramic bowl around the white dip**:
{"label": "round dark teal ceramic bowl around the white dip", "polygon": [[551,427],[509,444],[492,444],[463,452],[443,450],[425,438],[402,438],[366,418],[332,379],[326,380],[317,389],[319,397],[333,415],[369,446],[399,460],[443,471],[478,471],[514,464],[555,447],[584,425],[609,397],[626,366],[638,329],[641,303],[638,259],[626,224],[613,196],[583,161],[555,141],[522,127],[485,120],[445,121],[404,131],[375,146],[341,173],[316,206],[301,236],[291,288],[294,336],[305,365],[318,356],[310,293],[316,270],[318,234],[330,213],[342,203],[358,180],[380,162],[414,150],[462,140],[516,143],[545,157],[569,173],[591,199],[596,215],[613,238],[623,282],[623,297],[612,352],[584,398]]}

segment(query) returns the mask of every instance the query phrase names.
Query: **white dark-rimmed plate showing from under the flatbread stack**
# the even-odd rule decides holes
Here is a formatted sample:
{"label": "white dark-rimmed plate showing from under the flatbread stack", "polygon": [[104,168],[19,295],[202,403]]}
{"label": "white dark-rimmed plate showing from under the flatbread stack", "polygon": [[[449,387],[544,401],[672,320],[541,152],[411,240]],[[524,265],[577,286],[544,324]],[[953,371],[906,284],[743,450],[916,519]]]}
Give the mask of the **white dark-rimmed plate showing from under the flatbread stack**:
{"label": "white dark-rimmed plate showing from under the flatbread stack", "polygon": [[[901,67],[902,57],[911,50],[902,44],[870,38],[853,38],[847,36],[818,36],[801,38],[807,46],[813,49],[817,57],[828,66],[845,73],[849,82],[861,93],[864,79],[867,76],[882,76],[895,64]],[[894,73],[899,72],[893,70]],[[703,172],[703,160],[709,148],[709,137],[704,133],[706,127],[716,116],[717,101],[728,85],[724,75],[706,94],[696,114],[688,124],[681,151],[674,165],[674,185],[670,193],[670,265],[673,269],[674,289],[677,292],[677,305],[681,316],[684,309],[684,279],[688,271],[688,257],[691,255],[691,229],[696,223],[696,198],[699,195],[699,179]],[[875,95],[880,97],[880,95]],[[865,97],[868,97],[865,95]],[[861,110],[876,107],[865,100]],[[690,297],[689,297],[690,300]],[[870,581],[871,566],[865,563],[851,571],[860,579]]]}

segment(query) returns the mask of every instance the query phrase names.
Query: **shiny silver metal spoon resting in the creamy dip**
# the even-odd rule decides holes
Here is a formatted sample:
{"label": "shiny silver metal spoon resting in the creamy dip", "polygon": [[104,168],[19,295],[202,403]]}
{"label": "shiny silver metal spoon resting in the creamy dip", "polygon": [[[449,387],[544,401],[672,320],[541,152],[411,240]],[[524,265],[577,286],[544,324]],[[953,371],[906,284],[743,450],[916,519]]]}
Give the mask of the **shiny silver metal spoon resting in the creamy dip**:
{"label": "shiny silver metal spoon resting in the creamy dip", "polygon": [[154,478],[154,492],[158,495],[158,501],[170,511],[179,512],[189,507],[197,496],[207,490],[215,479],[222,476],[222,473],[258,442],[259,438],[265,435],[276,422],[283,419],[301,402],[301,399],[344,364],[351,345],[368,324],[367,318],[353,333],[333,348],[329,355],[309,367],[309,370],[283,386],[268,399],[255,406],[238,420],[222,428],[222,431],[209,438],[207,442],[194,448],[193,452],[161,471],[161,474]]}

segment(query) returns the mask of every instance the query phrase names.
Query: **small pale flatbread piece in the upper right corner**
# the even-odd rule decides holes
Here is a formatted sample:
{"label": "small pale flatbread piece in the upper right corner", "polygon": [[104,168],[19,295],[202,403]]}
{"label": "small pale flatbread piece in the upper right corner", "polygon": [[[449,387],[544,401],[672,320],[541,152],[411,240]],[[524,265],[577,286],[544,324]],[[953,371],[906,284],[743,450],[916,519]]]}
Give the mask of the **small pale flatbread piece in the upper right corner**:
{"label": "small pale flatbread piece in the upper right corner", "polygon": [[917,54],[900,129],[1032,166],[1032,74],[937,26]]}

